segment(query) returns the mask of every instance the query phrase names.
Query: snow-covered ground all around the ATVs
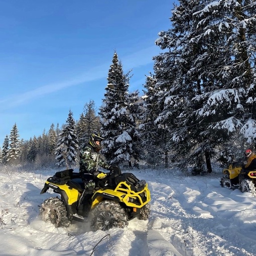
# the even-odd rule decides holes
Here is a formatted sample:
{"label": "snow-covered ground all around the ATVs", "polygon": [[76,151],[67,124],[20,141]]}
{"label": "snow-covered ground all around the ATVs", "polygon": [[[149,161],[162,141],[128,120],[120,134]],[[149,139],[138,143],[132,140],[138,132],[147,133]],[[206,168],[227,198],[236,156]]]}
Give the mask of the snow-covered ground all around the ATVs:
{"label": "snow-covered ground all around the ATVs", "polygon": [[0,255],[256,255],[256,199],[221,188],[221,171],[196,177],[173,170],[129,172],[149,183],[149,220],[93,232],[88,224],[55,228],[38,218],[38,205],[57,195],[40,195],[55,170],[0,167]]}

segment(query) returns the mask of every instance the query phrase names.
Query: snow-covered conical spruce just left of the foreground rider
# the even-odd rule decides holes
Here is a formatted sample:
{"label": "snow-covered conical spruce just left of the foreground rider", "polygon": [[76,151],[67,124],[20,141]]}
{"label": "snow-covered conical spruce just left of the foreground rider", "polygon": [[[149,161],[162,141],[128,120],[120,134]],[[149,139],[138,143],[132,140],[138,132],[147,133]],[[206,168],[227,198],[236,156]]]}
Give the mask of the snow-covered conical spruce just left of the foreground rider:
{"label": "snow-covered conical spruce just left of the foreground rider", "polygon": [[73,113],[69,110],[66,125],[59,134],[58,145],[55,152],[58,167],[66,166],[67,169],[76,165],[78,140],[76,136],[76,123],[73,118]]}

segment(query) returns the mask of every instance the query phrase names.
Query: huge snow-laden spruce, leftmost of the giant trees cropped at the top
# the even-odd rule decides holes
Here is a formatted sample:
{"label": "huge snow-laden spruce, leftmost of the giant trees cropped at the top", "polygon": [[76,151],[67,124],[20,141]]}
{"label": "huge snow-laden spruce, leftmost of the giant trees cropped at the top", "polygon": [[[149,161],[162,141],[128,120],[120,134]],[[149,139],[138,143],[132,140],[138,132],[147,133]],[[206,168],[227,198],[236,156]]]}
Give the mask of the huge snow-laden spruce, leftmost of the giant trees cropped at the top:
{"label": "huge snow-laden spruce, leftmost of the giant trees cropped at the top", "polygon": [[211,60],[207,54],[204,57],[205,50],[193,41],[197,33],[193,14],[199,7],[199,1],[180,1],[180,6],[173,10],[172,28],[159,33],[157,45],[169,51],[154,58],[159,104],[164,105],[156,121],[165,129],[163,135],[171,139],[167,140],[167,148],[172,149],[172,162],[177,162],[181,168],[195,165],[203,171],[206,157],[211,172],[211,144],[208,136],[203,137],[205,127],[197,121],[192,102],[196,94],[202,93],[202,73]]}

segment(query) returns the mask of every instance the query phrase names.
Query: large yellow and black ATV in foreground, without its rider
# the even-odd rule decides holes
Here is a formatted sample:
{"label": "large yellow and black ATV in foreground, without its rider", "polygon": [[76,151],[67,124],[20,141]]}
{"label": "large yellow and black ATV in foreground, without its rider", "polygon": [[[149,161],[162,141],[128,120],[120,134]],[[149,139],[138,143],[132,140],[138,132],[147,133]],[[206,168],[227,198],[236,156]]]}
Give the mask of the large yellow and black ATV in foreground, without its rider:
{"label": "large yellow and black ATV in foreground, without its rider", "polygon": [[147,220],[150,214],[150,191],[145,180],[132,173],[123,173],[113,179],[111,187],[98,185],[91,198],[88,218],[77,215],[79,198],[84,190],[80,174],[68,169],[56,172],[47,179],[41,194],[49,188],[59,197],[50,197],[40,206],[40,217],[55,227],[67,227],[72,221],[90,221],[92,230],[124,227],[138,217]]}

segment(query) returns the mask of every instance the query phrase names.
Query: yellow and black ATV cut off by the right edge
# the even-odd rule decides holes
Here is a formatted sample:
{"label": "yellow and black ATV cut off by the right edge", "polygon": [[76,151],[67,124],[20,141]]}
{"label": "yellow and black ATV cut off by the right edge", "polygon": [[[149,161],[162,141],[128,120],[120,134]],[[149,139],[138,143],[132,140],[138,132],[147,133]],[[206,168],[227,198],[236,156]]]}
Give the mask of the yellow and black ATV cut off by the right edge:
{"label": "yellow and black ATV cut off by the right edge", "polygon": [[234,162],[225,168],[225,175],[220,179],[221,187],[229,189],[240,189],[241,192],[249,192],[256,197],[256,170],[245,171],[241,162]]}

